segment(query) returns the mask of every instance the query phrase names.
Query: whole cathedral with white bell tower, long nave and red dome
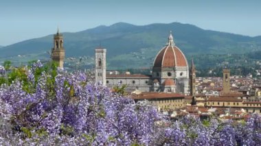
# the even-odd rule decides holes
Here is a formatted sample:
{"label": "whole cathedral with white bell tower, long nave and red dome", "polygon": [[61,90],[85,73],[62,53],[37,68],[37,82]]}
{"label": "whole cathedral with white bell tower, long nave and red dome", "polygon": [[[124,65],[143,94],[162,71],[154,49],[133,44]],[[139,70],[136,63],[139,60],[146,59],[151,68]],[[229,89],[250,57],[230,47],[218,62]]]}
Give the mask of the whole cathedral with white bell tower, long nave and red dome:
{"label": "whole cathedral with white bell tower, long nave and red dome", "polygon": [[[170,32],[168,42],[155,57],[152,75],[106,73],[106,49],[95,49],[95,82],[113,87],[126,84],[126,90],[141,92],[194,93],[189,88],[189,77],[194,77],[193,69],[189,69],[188,60],[174,43]],[[189,70],[191,73],[189,73]],[[191,79],[192,80],[192,79]],[[193,80],[190,86],[193,87]]]}

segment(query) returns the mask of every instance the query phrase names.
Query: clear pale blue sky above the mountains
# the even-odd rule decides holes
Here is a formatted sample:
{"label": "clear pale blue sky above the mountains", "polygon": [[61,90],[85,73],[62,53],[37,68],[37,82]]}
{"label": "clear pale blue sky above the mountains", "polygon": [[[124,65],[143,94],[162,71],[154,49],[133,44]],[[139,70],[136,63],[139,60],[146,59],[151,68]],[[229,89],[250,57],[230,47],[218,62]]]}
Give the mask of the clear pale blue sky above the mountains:
{"label": "clear pale blue sky above the mountains", "polygon": [[203,29],[261,35],[261,1],[243,0],[0,0],[0,45],[78,32],[117,22],[190,23]]}

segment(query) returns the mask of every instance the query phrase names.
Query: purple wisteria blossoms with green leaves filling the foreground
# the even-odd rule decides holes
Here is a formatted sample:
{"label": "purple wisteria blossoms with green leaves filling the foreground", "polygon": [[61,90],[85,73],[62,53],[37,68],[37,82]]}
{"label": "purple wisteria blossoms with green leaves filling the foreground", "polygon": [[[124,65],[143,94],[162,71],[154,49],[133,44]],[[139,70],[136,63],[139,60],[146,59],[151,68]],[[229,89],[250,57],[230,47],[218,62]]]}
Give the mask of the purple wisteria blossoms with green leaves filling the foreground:
{"label": "purple wisteria blossoms with green leaves filling the foreground", "polygon": [[[137,104],[89,82],[80,71],[50,74],[43,67],[35,62],[23,70],[25,81],[1,84],[0,145],[261,143],[261,118],[256,114],[247,122],[201,121],[192,116],[173,122],[150,104]],[[32,89],[25,90],[25,85]]]}

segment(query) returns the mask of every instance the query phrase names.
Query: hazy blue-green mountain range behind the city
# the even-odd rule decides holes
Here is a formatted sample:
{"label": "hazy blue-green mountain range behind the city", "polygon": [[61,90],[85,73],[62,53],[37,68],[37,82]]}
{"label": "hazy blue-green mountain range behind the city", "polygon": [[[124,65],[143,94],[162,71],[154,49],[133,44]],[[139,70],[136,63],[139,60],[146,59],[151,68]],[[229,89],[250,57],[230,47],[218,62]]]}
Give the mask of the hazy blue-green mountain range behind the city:
{"label": "hazy blue-green mountain range behind the city", "polygon": [[[175,44],[187,58],[198,54],[249,53],[261,50],[261,36],[216,32],[183,23],[153,23],[142,26],[115,23],[82,32],[63,33],[66,58],[87,56],[85,62],[93,62],[94,49],[102,46],[107,49],[107,64],[111,69],[122,69],[126,66],[149,67],[152,66],[157,52],[166,45],[170,31]],[[52,45],[52,34],[17,42],[1,47],[0,61],[47,60],[47,51],[52,49]]]}

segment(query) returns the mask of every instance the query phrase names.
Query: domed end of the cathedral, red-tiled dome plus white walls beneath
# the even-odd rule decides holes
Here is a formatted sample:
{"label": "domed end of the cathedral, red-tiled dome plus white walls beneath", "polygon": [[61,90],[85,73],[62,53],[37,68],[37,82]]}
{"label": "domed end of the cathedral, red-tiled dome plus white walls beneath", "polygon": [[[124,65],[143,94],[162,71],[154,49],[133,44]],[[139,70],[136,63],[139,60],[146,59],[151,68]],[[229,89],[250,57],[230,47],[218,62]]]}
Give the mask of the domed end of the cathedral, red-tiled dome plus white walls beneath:
{"label": "domed end of the cathedral, red-tiled dome plus white walls beneath", "polygon": [[[170,32],[168,42],[157,54],[152,68],[153,88],[163,92],[166,88],[171,92],[188,94],[189,67],[185,55],[174,43]],[[166,82],[172,81],[170,88]]]}

